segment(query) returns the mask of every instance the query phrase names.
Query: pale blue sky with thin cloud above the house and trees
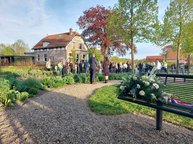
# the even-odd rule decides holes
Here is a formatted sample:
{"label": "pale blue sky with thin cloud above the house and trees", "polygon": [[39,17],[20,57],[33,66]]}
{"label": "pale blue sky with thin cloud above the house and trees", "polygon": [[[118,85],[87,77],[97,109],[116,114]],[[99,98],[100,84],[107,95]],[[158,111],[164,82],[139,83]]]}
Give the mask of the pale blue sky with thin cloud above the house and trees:
{"label": "pale blue sky with thin cloud above the house and trees", "polygon": [[[0,0],[0,43],[24,40],[32,48],[47,34],[67,32],[73,28],[83,11],[97,4],[113,7],[118,0]],[[158,0],[162,19],[169,0]],[[161,48],[150,43],[137,43],[136,58],[159,55]],[[127,56],[128,57],[128,56]]]}

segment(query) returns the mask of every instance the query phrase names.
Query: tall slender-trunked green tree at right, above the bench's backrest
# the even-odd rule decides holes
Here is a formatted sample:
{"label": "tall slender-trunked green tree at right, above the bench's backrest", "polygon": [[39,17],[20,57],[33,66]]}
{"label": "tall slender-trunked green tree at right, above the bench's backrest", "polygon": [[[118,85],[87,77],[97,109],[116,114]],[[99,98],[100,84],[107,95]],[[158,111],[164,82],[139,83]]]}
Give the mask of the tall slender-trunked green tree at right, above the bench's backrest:
{"label": "tall slender-trunked green tree at right, above the bench's backrest", "polygon": [[[171,0],[164,15],[162,28],[163,44],[172,43],[177,51],[177,70],[179,68],[179,51],[184,38],[187,23],[193,19],[193,0]],[[178,72],[178,71],[177,71]]]}

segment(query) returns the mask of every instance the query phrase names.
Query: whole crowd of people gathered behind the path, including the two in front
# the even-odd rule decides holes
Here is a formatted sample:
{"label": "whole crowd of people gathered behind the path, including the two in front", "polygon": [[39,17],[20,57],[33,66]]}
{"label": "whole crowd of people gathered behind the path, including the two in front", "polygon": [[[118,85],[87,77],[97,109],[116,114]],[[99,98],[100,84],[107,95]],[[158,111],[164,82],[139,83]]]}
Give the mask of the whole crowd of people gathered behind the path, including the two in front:
{"label": "whole crowd of people gathered behind the path, including the two in front", "polygon": [[[149,73],[153,67],[156,67],[157,73],[168,73],[168,65],[167,62],[139,62],[135,63],[135,73],[141,75],[145,73]],[[49,59],[46,62],[46,68],[48,71],[52,69],[51,60]],[[58,71],[61,76],[65,74],[74,73],[88,73],[90,72],[90,83],[94,83],[94,78],[96,73],[104,74],[105,83],[108,82],[108,76],[110,73],[123,73],[123,72],[131,72],[131,64],[129,62],[119,62],[115,63],[110,61],[108,57],[105,57],[103,61],[98,62],[95,58],[95,54],[89,58],[89,60],[82,60],[80,62],[72,63],[69,60],[59,61],[55,67],[55,71]],[[185,73],[187,71],[187,66],[184,64],[180,64],[179,72]],[[171,72],[176,72],[175,64],[171,65]]]}

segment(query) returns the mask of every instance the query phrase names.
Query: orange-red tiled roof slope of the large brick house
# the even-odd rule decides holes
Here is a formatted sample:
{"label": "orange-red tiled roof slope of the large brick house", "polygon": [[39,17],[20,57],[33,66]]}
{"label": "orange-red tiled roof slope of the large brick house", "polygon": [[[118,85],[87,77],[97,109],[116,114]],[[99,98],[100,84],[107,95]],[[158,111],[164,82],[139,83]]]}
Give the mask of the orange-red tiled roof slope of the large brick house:
{"label": "orange-red tiled roof slope of the large brick house", "polygon": [[[46,37],[41,39],[33,47],[33,49],[65,47],[75,36],[80,36],[80,34],[77,32],[72,32],[72,34],[67,32],[67,33],[60,33],[60,34],[54,34],[54,35],[47,35]],[[43,46],[44,42],[48,42],[49,44],[47,46]]]}

